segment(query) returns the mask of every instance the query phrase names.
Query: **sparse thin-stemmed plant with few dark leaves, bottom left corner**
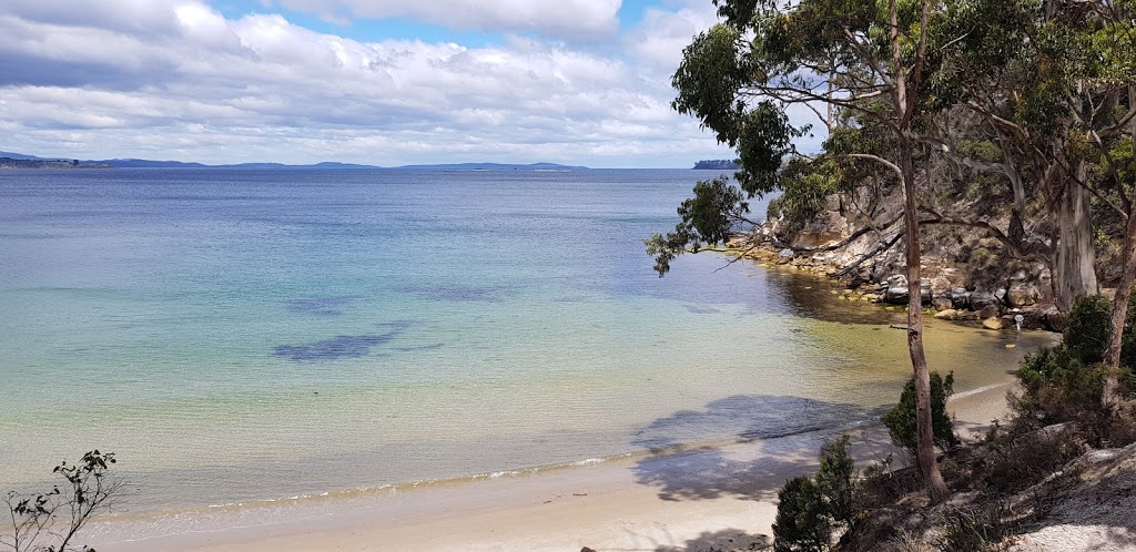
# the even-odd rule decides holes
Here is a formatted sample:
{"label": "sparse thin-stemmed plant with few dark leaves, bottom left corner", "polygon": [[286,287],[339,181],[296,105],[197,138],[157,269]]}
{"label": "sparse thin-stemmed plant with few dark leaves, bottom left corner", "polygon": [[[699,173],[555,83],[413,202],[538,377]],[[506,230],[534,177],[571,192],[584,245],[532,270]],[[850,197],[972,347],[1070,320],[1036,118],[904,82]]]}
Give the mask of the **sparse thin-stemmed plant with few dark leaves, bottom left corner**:
{"label": "sparse thin-stemmed plant with few dark leaves, bottom left corner", "polygon": [[95,513],[110,508],[111,497],[122,488],[122,483],[107,478],[112,463],[112,453],[91,451],[78,463],[65,460],[56,466],[52,472],[66,479],[66,485],[34,495],[9,492],[6,502],[11,534],[0,535],[0,547],[14,552],[94,552],[87,546],[76,549],[72,541]]}

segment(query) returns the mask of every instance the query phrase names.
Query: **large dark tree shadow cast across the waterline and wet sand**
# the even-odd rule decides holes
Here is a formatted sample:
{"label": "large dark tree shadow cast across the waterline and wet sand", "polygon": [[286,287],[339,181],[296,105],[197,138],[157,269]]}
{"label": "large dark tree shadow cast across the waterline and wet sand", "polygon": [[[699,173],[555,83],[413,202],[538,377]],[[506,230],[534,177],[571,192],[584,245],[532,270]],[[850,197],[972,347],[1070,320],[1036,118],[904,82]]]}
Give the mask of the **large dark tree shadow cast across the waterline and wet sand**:
{"label": "large dark tree shadow cast across the waterline and wet sand", "polygon": [[[800,396],[729,396],[635,432],[633,444],[651,451],[634,467],[636,480],[658,487],[662,500],[775,499],[786,477],[816,467],[825,437],[872,423],[884,410]],[[684,444],[724,434],[734,440]]]}

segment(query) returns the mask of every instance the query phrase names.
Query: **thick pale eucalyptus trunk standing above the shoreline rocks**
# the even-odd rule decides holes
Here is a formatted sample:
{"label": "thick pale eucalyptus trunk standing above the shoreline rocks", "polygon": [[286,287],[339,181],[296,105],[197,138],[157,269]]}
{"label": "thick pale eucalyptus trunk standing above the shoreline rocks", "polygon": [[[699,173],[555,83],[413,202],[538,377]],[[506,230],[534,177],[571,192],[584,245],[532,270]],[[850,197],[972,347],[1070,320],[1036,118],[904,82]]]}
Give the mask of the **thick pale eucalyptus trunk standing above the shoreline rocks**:
{"label": "thick pale eucalyptus trunk standing above the shoreline rocks", "polygon": [[[1085,176],[1084,162],[1079,164],[1077,172],[1079,177]],[[1099,292],[1088,200],[1088,191],[1080,184],[1066,184],[1058,210],[1061,234],[1056,244],[1056,270],[1053,275],[1058,288],[1053,299],[1062,311],[1068,311],[1078,296]]]}

